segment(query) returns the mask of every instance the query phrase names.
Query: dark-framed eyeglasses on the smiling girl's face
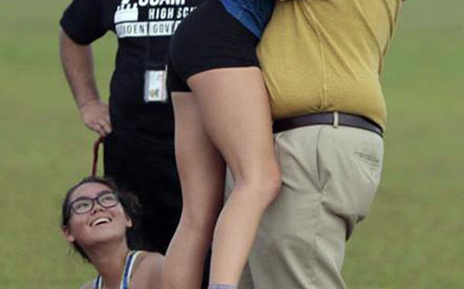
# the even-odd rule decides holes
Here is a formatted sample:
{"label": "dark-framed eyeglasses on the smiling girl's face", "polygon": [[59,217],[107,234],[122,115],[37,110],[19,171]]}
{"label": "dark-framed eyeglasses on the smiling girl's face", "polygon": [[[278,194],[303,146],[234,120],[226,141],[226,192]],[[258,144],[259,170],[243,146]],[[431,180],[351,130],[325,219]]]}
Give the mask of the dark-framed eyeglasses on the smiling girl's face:
{"label": "dark-framed eyeglasses on the smiling girl's face", "polygon": [[76,214],[85,214],[92,211],[95,201],[103,208],[111,208],[119,204],[119,198],[116,191],[104,190],[98,193],[94,198],[78,197],[69,203],[69,210]]}

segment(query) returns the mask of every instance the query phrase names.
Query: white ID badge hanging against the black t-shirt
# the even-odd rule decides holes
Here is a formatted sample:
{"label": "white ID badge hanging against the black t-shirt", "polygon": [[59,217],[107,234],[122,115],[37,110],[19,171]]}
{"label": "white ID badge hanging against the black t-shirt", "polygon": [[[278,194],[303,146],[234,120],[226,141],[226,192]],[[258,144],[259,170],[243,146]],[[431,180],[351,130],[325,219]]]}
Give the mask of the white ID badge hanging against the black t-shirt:
{"label": "white ID badge hanging against the black t-shirt", "polygon": [[149,66],[145,69],[143,92],[143,100],[145,102],[167,102],[166,74],[166,66]]}

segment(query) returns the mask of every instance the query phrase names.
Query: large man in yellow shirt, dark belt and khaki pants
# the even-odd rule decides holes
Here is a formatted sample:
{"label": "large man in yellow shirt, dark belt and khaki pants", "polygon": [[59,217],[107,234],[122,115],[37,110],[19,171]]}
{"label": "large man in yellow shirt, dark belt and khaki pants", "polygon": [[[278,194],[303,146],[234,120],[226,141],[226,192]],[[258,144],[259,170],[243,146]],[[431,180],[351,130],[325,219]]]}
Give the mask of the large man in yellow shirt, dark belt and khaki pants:
{"label": "large man in yellow shirt, dark belt and khaki pants", "polygon": [[401,0],[277,1],[258,48],[283,186],[240,288],[345,288],[345,242],[380,181],[379,81]]}

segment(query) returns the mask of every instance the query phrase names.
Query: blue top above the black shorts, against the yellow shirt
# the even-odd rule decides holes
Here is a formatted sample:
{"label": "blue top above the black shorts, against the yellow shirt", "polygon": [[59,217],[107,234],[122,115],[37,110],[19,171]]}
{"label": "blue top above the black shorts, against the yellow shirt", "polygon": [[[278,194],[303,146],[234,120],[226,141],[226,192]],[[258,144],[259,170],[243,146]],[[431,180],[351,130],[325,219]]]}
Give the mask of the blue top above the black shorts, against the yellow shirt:
{"label": "blue top above the black shorts, against the yellow shirt", "polygon": [[274,9],[275,0],[218,0],[257,38],[261,38]]}

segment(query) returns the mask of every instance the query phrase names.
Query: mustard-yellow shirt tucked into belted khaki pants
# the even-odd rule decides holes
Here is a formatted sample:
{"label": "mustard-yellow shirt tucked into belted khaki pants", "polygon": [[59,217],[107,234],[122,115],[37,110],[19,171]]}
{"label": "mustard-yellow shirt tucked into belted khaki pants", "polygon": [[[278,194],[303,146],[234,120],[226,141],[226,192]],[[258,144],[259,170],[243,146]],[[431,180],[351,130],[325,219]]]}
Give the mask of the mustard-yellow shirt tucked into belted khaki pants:
{"label": "mustard-yellow shirt tucked into belted khaki pants", "polygon": [[379,75],[401,0],[277,1],[257,49],[273,117],[339,111],[384,128]]}

